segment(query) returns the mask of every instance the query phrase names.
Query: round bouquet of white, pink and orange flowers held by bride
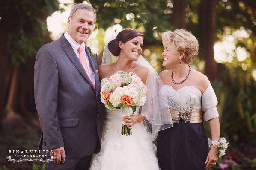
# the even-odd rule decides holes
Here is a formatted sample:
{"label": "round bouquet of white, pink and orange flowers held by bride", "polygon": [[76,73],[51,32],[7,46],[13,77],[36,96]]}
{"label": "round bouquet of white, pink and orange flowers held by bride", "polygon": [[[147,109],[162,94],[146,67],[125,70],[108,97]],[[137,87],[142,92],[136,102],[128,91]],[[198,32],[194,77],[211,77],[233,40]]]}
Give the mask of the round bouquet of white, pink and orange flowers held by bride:
{"label": "round bouquet of white, pink and orange flowers held by bride", "polygon": [[[101,102],[107,109],[122,109],[123,116],[133,115],[136,107],[143,106],[146,93],[146,85],[132,72],[117,71],[110,78],[103,78],[101,81]],[[131,130],[124,122],[121,135],[131,135]]]}

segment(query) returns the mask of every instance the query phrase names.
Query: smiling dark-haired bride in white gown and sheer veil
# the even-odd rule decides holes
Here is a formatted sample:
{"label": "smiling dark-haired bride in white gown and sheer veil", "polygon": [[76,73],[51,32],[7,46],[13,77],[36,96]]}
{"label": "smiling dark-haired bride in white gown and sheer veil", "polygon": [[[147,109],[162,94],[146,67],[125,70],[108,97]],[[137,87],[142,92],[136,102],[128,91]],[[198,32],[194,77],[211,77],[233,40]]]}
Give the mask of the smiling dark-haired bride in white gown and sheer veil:
{"label": "smiling dark-haired bride in white gown and sheer veil", "polygon": [[[173,122],[169,109],[160,108],[160,103],[167,102],[159,101],[158,90],[163,84],[154,68],[141,56],[142,47],[142,33],[123,29],[104,48],[102,65],[98,67],[100,79],[119,70],[133,72],[146,84],[148,92],[146,103],[132,116],[122,117],[122,109],[107,110],[101,151],[92,158],[91,170],[159,170],[152,141],[159,130],[172,127]],[[113,62],[113,55],[118,56],[116,62]],[[131,136],[120,134],[122,121],[132,129]]]}

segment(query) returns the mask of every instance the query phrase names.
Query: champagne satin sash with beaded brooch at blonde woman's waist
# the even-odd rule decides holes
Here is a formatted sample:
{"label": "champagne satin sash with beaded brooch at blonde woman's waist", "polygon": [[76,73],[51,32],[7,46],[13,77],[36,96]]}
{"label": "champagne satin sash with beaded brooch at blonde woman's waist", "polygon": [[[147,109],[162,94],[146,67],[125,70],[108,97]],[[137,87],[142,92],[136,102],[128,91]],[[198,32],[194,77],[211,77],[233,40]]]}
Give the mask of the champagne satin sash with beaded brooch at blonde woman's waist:
{"label": "champagne satin sash with beaded brooch at blonde woman's waist", "polygon": [[176,109],[170,109],[173,123],[179,123],[181,119],[190,123],[202,123],[202,109],[192,109],[191,112],[178,112]]}

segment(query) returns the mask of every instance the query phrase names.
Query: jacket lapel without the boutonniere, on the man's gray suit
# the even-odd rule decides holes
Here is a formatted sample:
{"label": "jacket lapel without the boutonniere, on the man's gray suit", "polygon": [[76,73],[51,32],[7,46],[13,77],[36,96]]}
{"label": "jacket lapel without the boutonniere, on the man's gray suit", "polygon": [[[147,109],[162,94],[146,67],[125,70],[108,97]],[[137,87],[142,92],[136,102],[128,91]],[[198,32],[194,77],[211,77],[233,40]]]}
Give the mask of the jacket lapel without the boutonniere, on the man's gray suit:
{"label": "jacket lapel without the boutonniere, on the man's gray suit", "polygon": [[88,83],[93,88],[91,80],[89,79],[88,75],[86,74],[85,70],[83,69],[82,64],[80,63],[79,59],[77,58],[77,55],[75,54],[74,49],[72,48],[72,46],[70,45],[68,40],[64,37],[64,35],[62,35],[60,37],[60,40],[63,43],[62,48],[63,48],[64,52],[66,53],[66,55],[68,56],[68,58],[71,60],[71,62],[77,68],[77,70],[80,72],[80,74],[83,76],[83,78],[85,78],[86,81],[88,81]]}

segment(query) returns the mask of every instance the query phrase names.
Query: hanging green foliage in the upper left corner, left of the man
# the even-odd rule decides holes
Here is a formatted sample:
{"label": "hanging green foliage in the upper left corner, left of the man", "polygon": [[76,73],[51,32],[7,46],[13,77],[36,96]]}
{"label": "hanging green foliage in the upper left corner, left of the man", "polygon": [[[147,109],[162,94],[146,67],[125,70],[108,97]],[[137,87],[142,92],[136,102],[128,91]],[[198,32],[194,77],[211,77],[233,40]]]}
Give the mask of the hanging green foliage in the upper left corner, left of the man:
{"label": "hanging green foliage in the upper left corner, left of the man", "polygon": [[9,29],[6,45],[12,63],[25,64],[28,58],[36,56],[45,43],[46,17],[58,6],[57,0],[19,0],[16,3],[6,0],[1,3],[2,22]]}

